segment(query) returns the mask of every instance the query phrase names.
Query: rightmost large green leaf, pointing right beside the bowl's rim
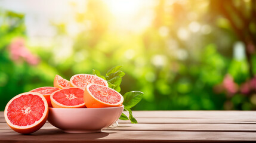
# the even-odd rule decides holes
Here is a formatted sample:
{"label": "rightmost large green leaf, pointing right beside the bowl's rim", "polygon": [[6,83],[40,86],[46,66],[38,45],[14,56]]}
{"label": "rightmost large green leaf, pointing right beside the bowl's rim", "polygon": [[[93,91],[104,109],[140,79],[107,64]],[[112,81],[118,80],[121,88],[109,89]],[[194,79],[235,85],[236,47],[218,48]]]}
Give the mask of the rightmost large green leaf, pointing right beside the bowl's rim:
{"label": "rightmost large green leaf, pointing right beside the bowl's rim", "polygon": [[123,96],[124,97],[123,105],[126,108],[134,107],[136,104],[138,104],[138,102],[141,101],[142,96],[143,96],[143,92],[140,92],[140,91],[126,92]]}

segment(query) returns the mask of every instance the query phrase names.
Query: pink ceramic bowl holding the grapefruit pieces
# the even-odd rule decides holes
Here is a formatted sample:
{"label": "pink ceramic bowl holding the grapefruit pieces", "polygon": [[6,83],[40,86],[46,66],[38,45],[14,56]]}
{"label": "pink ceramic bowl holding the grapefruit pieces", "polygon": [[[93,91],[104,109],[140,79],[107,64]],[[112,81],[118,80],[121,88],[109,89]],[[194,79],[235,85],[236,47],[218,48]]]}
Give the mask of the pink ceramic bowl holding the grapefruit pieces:
{"label": "pink ceramic bowl holding the grapefruit pieces", "polygon": [[101,132],[119,119],[124,110],[107,108],[49,108],[48,122],[69,133]]}

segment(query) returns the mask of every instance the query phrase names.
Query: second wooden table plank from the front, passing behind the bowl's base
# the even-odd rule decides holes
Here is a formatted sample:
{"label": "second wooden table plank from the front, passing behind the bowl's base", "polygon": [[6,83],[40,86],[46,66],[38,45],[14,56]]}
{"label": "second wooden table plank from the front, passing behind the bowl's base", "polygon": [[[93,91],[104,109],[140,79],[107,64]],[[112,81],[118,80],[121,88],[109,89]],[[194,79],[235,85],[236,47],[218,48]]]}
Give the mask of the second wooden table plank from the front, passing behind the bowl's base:
{"label": "second wooden table plank from the front, passing behind the bowl's base", "polygon": [[[11,128],[7,123],[0,123],[0,130]],[[45,123],[41,129],[56,129],[50,123]],[[208,131],[208,132],[256,132],[256,124],[131,124],[119,123],[119,126],[110,126],[104,130],[162,130],[162,131]]]}

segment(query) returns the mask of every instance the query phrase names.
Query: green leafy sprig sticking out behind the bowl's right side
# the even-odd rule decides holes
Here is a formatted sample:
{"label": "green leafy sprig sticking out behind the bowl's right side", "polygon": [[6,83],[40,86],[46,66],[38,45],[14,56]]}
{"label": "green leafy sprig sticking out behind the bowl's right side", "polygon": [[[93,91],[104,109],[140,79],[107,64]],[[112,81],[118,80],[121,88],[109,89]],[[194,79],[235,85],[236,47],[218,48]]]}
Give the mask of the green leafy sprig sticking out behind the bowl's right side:
{"label": "green leafy sprig sticking out behind the bowl's right side", "polygon": [[[109,88],[115,89],[115,91],[120,92],[122,77],[125,76],[124,71],[120,70],[122,66],[116,66],[112,69],[108,70],[106,76],[101,75],[100,71],[92,70],[92,74],[95,74],[98,77],[101,77],[107,80],[109,84]],[[140,91],[130,91],[123,95],[124,97],[124,111],[128,111],[129,117],[127,117],[124,113],[122,113],[119,119],[121,120],[130,120],[131,123],[138,123],[137,120],[132,116],[131,108],[134,107],[138,102],[141,101],[143,96],[143,92]]]}

